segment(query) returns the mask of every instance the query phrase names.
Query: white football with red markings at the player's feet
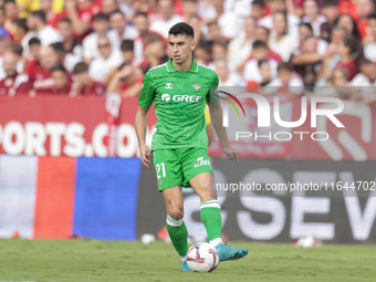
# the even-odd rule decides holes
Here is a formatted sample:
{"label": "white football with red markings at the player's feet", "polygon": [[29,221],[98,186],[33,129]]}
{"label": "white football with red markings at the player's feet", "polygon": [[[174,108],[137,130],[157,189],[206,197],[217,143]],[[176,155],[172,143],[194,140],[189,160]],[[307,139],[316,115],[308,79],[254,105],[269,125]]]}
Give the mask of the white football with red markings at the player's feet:
{"label": "white football with red markings at the player's feet", "polygon": [[195,243],[187,253],[188,268],[195,272],[212,272],[219,263],[219,255],[210,243]]}

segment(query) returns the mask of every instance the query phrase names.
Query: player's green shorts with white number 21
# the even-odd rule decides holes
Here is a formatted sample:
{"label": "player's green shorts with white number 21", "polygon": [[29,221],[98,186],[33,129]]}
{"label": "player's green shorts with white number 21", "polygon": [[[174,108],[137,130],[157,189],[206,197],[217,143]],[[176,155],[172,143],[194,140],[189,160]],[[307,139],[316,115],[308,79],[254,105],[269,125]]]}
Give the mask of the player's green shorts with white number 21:
{"label": "player's green shorts with white number 21", "polygon": [[158,191],[181,185],[201,173],[213,175],[207,148],[156,149],[152,161],[157,174]]}

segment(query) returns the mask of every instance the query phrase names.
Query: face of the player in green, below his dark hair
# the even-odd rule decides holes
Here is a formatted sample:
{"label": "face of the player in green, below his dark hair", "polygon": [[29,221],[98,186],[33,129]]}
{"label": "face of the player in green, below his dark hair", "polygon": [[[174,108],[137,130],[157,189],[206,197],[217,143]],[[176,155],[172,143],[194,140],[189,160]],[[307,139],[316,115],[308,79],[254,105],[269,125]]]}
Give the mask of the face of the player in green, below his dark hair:
{"label": "face of the player in green, below his dark hair", "polygon": [[168,49],[175,63],[182,64],[191,59],[196,42],[187,35],[178,34],[168,36]]}

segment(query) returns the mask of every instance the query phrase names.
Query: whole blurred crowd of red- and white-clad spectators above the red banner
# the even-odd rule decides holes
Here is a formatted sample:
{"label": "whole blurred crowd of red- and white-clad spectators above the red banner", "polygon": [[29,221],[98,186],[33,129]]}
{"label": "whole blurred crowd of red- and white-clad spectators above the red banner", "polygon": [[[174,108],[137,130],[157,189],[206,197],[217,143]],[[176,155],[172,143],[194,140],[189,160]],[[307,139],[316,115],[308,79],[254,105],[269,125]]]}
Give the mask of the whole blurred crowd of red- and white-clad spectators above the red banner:
{"label": "whole blurred crowd of red- and white-clad spectators above the red banner", "polygon": [[[137,96],[194,27],[220,86],[374,101],[373,0],[0,0],[0,95]],[[325,87],[324,87],[325,86]],[[347,87],[356,86],[356,87]]]}

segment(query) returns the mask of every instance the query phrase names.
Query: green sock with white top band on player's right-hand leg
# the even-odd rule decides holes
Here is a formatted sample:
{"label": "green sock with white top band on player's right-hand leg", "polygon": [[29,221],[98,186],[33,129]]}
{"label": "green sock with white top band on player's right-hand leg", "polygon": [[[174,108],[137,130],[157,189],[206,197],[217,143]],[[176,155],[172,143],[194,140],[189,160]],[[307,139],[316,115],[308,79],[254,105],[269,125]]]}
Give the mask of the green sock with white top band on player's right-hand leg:
{"label": "green sock with white top band on player's right-hand leg", "polygon": [[221,211],[217,199],[202,201],[200,205],[200,217],[208,233],[209,241],[215,246],[221,242]]}

